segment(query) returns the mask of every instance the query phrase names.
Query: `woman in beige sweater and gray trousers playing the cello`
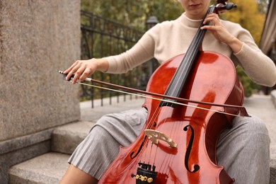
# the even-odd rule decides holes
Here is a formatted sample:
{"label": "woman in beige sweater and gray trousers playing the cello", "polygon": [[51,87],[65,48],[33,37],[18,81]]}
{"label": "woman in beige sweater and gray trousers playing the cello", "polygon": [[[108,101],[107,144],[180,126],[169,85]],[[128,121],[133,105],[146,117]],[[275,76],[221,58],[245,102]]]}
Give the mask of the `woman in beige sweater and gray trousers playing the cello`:
{"label": "woman in beige sweater and gray trousers playing the cello", "polygon": [[[155,57],[161,64],[186,52],[210,0],[181,0],[185,9],[175,21],[165,21],[151,28],[132,49],[117,56],[76,61],[64,71],[67,78],[75,73],[72,83],[84,80],[99,70],[123,73]],[[257,84],[273,86],[276,69],[272,60],[255,45],[250,33],[236,23],[222,21],[217,14],[205,18],[202,29],[208,30],[202,43],[203,50],[213,50],[230,57],[241,65]],[[127,110],[106,115],[69,159],[67,173],[61,183],[97,183],[115,159],[119,145],[127,146],[137,137],[146,120],[146,110]],[[127,133],[125,133],[127,132]],[[258,117],[236,117],[231,130],[224,130],[217,145],[217,160],[236,183],[269,183],[268,130]]]}

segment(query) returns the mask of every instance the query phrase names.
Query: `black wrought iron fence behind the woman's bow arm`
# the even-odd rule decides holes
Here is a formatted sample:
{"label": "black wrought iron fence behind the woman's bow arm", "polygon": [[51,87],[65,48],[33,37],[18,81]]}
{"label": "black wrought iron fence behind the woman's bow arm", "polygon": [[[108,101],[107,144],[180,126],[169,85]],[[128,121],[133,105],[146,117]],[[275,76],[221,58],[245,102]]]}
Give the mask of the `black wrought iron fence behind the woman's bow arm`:
{"label": "black wrought iron fence behind the woman's bow arm", "polygon": [[[130,49],[142,37],[142,34],[143,32],[128,26],[81,11],[81,59],[120,54]],[[157,66],[157,62],[152,59],[126,74],[103,74],[96,71],[92,77],[100,81],[145,90],[147,81]],[[111,104],[113,96],[117,96],[117,103],[119,103],[119,96],[122,96],[117,92],[84,85],[81,85],[80,90],[81,100],[91,100],[92,108],[95,99],[100,98],[100,103],[103,105],[103,98],[109,98]],[[132,96],[129,98],[132,99]],[[126,100],[127,95],[124,95],[123,99]]]}

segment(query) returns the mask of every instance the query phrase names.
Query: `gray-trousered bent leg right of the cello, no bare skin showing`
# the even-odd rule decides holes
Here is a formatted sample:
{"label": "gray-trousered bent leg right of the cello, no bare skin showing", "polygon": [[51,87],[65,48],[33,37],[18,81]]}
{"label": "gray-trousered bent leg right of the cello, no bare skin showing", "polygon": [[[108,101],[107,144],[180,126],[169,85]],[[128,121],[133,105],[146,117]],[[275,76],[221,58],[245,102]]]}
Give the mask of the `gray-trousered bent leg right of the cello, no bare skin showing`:
{"label": "gray-trousered bent leg right of the cello, no bare skin showing", "polygon": [[236,117],[217,145],[217,161],[241,183],[269,183],[270,137],[258,117]]}

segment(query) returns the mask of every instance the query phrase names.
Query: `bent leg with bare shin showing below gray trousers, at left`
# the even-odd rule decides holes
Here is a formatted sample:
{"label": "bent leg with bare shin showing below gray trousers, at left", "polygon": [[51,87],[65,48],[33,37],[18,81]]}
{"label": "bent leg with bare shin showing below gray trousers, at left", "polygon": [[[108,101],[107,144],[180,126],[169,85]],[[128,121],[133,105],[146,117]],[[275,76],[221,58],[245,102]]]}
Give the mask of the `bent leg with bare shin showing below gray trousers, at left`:
{"label": "bent leg with bare shin showing below gray trousers, at left", "polygon": [[119,146],[132,143],[141,132],[145,120],[145,109],[125,110],[101,117],[71,155],[71,165],[63,180],[78,178],[80,172],[99,180],[117,156]]}

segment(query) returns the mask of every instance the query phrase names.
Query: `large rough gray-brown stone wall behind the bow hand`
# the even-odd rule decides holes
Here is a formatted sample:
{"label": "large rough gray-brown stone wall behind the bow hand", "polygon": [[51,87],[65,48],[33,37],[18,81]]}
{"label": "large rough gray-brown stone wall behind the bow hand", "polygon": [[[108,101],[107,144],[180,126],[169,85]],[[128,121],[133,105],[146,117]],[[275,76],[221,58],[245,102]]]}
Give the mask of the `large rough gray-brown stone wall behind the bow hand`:
{"label": "large rough gray-brown stone wall behind the bow hand", "polygon": [[0,143],[79,120],[80,0],[0,0]]}

